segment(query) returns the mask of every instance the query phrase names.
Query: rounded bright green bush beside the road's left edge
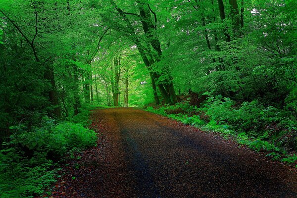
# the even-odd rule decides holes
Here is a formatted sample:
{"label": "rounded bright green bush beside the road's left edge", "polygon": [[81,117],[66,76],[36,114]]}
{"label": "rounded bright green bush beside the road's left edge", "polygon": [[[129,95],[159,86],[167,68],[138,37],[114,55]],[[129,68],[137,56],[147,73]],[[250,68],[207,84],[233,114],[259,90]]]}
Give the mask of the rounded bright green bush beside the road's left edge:
{"label": "rounded bright green bush beside the road's left edge", "polygon": [[16,142],[33,151],[59,157],[71,148],[96,146],[96,133],[81,124],[63,122],[20,134]]}

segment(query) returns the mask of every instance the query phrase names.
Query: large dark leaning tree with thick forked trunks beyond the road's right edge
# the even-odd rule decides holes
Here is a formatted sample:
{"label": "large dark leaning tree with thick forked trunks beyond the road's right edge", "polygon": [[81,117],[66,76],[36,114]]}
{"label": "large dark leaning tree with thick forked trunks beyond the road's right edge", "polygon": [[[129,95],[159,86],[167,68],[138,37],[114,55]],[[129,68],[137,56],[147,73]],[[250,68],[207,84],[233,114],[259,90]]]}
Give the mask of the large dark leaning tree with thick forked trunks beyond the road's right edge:
{"label": "large dark leaning tree with thick forked trunks beyond the road's right edge", "polygon": [[[157,16],[156,13],[150,8],[148,3],[142,1],[136,1],[139,13],[128,12],[120,8],[115,1],[110,0],[112,10],[109,13],[115,13],[120,16],[110,17],[101,15],[102,18],[109,22],[107,24],[110,28],[121,32],[128,39],[133,41],[137,46],[139,53],[150,71],[152,82],[159,88],[161,95],[163,96],[165,103],[174,104],[177,101],[177,96],[174,91],[173,78],[170,74],[170,70],[164,66],[161,70],[155,70],[153,65],[161,60],[162,51],[158,35],[156,34],[157,29]],[[154,16],[154,24],[151,20],[151,14]],[[129,17],[133,16],[133,19]],[[144,37],[136,32],[136,28],[139,30],[139,26],[134,27],[131,20],[137,20],[142,24],[142,30]],[[120,24],[119,21],[123,21],[124,24]],[[123,29],[124,28],[124,29]],[[152,83],[152,86],[154,86]],[[154,89],[154,87],[153,87]],[[155,91],[154,91],[155,93]],[[155,99],[157,99],[155,97]],[[156,102],[158,102],[156,100]]]}

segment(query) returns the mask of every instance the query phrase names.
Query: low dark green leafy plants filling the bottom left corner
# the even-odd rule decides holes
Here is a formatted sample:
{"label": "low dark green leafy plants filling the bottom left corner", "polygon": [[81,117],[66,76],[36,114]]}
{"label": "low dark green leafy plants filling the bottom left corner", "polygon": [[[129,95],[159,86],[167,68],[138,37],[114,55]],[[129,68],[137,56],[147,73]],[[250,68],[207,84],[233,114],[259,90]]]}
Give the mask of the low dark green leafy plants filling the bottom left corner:
{"label": "low dark green leafy plants filling the bottom left corner", "polygon": [[57,168],[43,153],[31,159],[17,148],[0,150],[0,197],[33,198],[55,182]]}

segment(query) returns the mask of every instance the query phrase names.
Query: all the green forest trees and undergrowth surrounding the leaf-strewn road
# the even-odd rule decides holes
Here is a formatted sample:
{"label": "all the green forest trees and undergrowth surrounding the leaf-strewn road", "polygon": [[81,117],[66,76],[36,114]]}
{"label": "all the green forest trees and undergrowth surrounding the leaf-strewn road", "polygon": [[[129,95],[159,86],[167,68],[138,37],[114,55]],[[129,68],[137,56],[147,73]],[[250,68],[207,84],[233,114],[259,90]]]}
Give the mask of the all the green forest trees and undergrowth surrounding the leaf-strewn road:
{"label": "all the green forest trees and undergrowth surrounding the leaf-strewn road", "polygon": [[62,156],[96,145],[88,115],[103,106],[146,108],[294,163],[296,7],[1,0],[0,197],[42,194]]}

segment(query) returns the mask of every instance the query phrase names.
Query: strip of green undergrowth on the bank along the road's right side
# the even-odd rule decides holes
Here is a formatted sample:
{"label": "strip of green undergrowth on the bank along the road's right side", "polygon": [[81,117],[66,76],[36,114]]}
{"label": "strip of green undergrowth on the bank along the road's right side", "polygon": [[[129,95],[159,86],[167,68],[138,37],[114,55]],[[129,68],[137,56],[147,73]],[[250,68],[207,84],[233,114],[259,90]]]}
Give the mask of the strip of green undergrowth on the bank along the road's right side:
{"label": "strip of green undergrowth on the bank along the road's right side", "polygon": [[264,106],[257,100],[237,104],[229,98],[209,97],[200,107],[183,101],[147,110],[217,132],[255,151],[269,152],[267,156],[273,160],[297,163],[297,156],[289,154],[297,150],[297,120],[284,109]]}

